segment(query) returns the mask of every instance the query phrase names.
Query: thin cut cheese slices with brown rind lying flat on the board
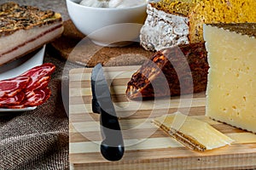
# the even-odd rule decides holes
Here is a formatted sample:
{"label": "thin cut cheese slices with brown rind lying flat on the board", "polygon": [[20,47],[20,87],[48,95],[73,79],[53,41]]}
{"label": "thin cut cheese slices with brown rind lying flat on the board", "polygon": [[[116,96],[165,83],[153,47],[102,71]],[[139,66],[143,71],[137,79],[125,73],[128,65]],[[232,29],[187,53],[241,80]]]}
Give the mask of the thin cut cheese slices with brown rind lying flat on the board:
{"label": "thin cut cheese slices with brown rind lying flat on the board", "polygon": [[233,142],[233,139],[220,133],[207,122],[181,113],[156,117],[153,122],[161,130],[191,150],[212,150]]}

